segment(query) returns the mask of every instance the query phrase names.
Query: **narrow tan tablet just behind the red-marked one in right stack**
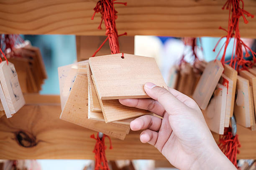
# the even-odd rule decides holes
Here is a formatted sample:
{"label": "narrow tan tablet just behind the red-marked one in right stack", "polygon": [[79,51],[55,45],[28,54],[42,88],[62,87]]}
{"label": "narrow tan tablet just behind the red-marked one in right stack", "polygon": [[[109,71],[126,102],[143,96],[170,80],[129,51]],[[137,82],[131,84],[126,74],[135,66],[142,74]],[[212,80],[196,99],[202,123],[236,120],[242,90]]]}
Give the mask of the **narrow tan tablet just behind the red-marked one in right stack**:
{"label": "narrow tan tablet just behind the red-marked one in right stack", "polygon": [[[231,106],[230,106],[230,117],[233,116],[234,112],[234,104],[235,104],[235,96],[236,96],[236,80],[237,80],[237,71],[230,67],[227,64],[224,64],[224,72],[223,74],[227,76],[230,80],[233,81],[232,87],[232,98],[231,98]],[[230,86],[229,86],[230,87]]]}

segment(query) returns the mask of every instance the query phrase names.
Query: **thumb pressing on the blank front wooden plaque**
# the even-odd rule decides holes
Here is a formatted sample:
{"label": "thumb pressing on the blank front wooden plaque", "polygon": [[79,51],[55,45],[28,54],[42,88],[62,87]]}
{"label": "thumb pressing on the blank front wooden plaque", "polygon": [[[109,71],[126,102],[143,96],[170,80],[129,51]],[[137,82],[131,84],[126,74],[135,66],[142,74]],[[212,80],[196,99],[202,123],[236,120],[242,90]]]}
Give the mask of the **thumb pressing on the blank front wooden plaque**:
{"label": "thumb pressing on the blank front wooden plaque", "polygon": [[174,115],[177,111],[187,109],[187,105],[178,100],[171,92],[164,87],[159,87],[152,82],[144,85],[144,90],[149,97],[157,100],[170,115]]}

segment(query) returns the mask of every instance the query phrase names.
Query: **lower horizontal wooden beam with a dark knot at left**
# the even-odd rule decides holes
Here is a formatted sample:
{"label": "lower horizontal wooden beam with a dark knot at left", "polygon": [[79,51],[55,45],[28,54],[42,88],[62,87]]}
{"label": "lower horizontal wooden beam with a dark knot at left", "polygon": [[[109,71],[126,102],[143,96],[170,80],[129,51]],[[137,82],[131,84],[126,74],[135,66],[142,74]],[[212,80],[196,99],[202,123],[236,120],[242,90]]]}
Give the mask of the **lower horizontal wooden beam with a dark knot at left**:
{"label": "lower horizontal wooden beam with a dark knot at left", "polygon": [[[60,120],[60,105],[50,102],[55,100],[25,105],[12,118],[0,118],[0,159],[94,159],[95,140],[90,135],[96,132]],[[256,159],[256,131],[238,125],[237,133],[242,145],[238,159]],[[107,158],[165,160],[154,146],[141,143],[139,134],[131,131],[125,140],[111,138],[113,149],[106,150]],[[218,135],[213,136],[217,141]]]}

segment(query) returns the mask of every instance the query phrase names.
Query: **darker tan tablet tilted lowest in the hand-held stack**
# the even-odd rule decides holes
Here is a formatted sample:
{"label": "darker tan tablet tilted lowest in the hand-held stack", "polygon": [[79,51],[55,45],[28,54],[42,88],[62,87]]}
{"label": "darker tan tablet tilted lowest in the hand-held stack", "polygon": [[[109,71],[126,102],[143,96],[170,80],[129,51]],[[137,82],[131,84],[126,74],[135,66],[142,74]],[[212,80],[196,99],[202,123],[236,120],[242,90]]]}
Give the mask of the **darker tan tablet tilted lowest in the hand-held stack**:
{"label": "darker tan tablet tilted lowest in the hand-held stack", "polygon": [[78,74],[70,90],[67,102],[61,112],[60,119],[102,132],[118,139],[124,139],[129,125],[89,120],[88,117],[88,83],[87,75]]}

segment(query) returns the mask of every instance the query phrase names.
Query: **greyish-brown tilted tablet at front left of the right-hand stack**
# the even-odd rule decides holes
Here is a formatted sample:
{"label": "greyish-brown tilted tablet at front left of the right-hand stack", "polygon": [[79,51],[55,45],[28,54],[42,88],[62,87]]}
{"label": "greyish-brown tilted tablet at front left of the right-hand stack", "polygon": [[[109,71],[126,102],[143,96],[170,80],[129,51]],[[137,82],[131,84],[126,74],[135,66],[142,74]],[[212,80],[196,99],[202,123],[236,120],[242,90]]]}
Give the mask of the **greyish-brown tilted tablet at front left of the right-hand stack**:
{"label": "greyish-brown tilted tablet at front left of the right-hand stack", "polygon": [[223,70],[219,60],[212,60],[205,67],[192,96],[202,110],[206,109]]}

